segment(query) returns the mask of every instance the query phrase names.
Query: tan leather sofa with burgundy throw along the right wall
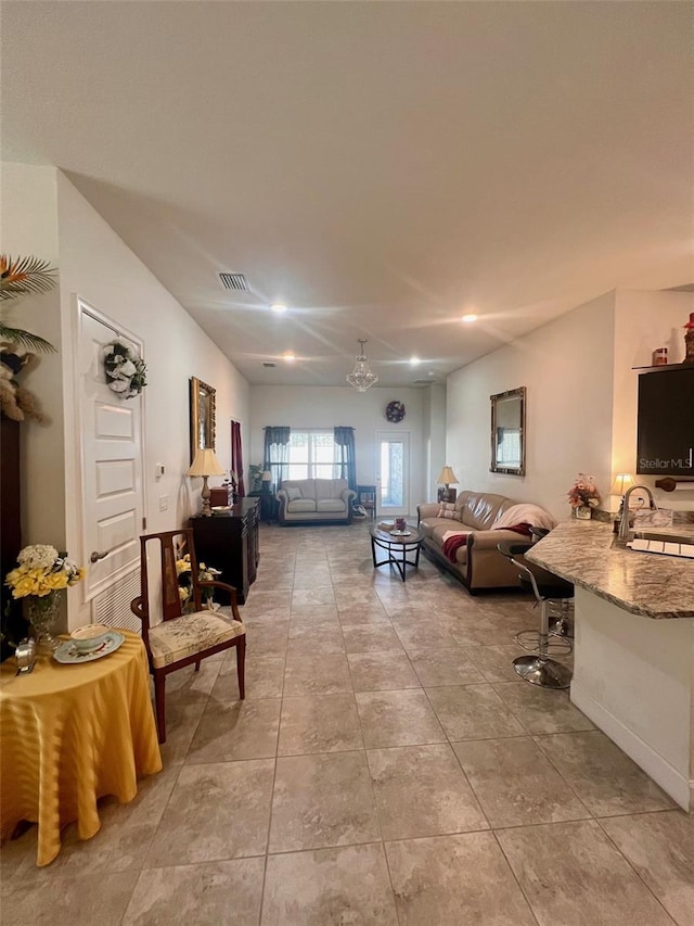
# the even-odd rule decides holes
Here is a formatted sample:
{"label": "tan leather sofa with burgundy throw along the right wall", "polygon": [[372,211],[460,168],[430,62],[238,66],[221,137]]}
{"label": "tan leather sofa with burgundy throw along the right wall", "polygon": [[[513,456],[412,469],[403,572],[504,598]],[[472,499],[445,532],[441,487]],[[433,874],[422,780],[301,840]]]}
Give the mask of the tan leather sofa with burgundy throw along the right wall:
{"label": "tan leather sofa with burgundy throw along the right wall", "polygon": [[[422,549],[467,588],[518,586],[518,570],[497,549],[501,541],[519,541],[529,528],[551,530],[556,521],[537,505],[488,492],[461,492],[453,503],[417,505]],[[514,530],[509,530],[514,528]]]}

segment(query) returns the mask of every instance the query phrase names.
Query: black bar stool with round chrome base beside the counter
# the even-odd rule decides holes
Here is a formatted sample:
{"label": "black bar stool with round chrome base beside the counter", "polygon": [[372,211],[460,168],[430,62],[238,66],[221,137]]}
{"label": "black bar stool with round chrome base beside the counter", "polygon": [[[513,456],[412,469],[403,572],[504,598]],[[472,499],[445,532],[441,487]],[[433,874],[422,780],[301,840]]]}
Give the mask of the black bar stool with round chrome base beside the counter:
{"label": "black bar stool with round chrome base beside the counter", "polygon": [[557,617],[561,617],[565,602],[574,597],[574,586],[545,570],[538,570],[536,573],[515,558],[523,556],[531,546],[531,543],[513,541],[502,541],[498,545],[499,553],[520,570],[518,581],[522,587],[532,592],[540,605],[539,630],[520,631],[515,636],[517,643],[532,655],[518,656],[513,660],[513,665],[518,675],[532,685],[540,685],[542,688],[568,688],[571,683],[571,670],[552,657],[568,656],[573,644],[561,632],[550,631],[550,619],[554,618],[556,621]]}

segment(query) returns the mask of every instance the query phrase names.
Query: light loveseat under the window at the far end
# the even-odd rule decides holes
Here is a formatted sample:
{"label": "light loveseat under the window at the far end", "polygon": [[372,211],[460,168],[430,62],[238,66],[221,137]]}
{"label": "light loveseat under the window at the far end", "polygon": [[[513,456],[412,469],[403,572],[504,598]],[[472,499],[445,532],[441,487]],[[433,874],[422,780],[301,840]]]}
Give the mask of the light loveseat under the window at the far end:
{"label": "light loveseat under the window at the far end", "polygon": [[277,493],[280,524],[350,524],[357,493],[346,479],[284,479]]}

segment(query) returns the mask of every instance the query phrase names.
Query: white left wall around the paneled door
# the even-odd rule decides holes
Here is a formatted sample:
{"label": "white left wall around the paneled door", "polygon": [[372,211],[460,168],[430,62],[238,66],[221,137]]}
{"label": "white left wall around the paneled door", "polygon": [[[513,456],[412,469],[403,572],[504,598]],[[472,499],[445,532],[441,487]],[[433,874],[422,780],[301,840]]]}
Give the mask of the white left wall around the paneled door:
{"label": "white left wall around the paneled door", "polygon": [[[77,295],[144,343],[147,530],[179,527],[198,506],[201,480],[189,485],[183,477],[189,466],[190,377],[196,376],[217,390],[217,452],[227,468],[231,462],[232,417],[241,421],[244,445],[248,446],[249,388],[60,170],[5,164],[2,192],[3,251],[47,257],[60,269],[60,286],[52,293],[50,310],[40,315],[39,301],[31,300],[23,317],[23,327],[49,338],[61,350],[56,357],[43,360],[26,383],[51,413],[53,423],[43,429],[29,423],[24,429],[23,540],[25,544],[53,543],[86,563],[88,551],[81,549],[79,506],[74,500],[80,496],[77,384],[73,377]],[[165,466],[160,480],[155,480],[156,462]],[[169,507],[160,512],[159,496],[164,495]],[[78,589],[72,589],[69,596],[70,625],[89,620]]]}

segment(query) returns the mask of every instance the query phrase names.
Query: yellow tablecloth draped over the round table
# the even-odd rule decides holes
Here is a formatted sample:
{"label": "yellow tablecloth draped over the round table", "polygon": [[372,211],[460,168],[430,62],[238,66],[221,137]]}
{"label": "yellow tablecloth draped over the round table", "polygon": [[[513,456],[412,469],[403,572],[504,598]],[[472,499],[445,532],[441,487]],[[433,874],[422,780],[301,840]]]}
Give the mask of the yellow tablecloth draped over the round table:
{"label": "yellow tablecloth draped over the round table", "polygon": [[126,803],[162,769],[144,646],[119,633],[123,646],[92,662],[41,657],[28,675],[14,658],[0,665],[0,829],[38,823],[38,865],[57,855],[66,823],[80,839],[99,832],[98,798]]}

